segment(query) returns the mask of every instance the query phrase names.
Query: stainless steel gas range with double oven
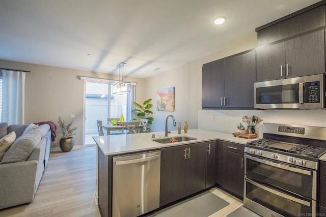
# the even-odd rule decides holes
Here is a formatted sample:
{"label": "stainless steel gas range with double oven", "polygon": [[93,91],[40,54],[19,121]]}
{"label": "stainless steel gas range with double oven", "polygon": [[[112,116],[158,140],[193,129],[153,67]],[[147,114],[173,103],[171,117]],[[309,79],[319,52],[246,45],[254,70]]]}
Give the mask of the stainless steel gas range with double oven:
{"label": "stainless steel gas range with double oven", "polygon": [[326,128],[264,123],[244,148],[243,204],[262,216],[316,216]]}

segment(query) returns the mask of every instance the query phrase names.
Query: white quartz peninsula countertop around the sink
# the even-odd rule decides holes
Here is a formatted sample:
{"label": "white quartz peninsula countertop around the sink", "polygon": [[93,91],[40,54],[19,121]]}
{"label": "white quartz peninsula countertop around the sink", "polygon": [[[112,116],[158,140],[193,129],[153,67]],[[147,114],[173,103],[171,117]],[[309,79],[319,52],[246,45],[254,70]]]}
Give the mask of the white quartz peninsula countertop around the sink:
{"label": "white quartz peninsula countertop around the sink", "polygon": [[115,154],[125,154],[128,152],[146,151],[151,149],[172,147],[177,145],[191,144],[197,142],[205,142],[210,140],[225,140],[229,142],[235,142],[240,144],[246,144],[249,141],[255,139],[244,139],[239,137],[234,137],[232,134],[219,133],[214,131],[199,130],[199,129],[189,129],[186,134],[178,134],[177,131],[172,131],[169,133],[168,137],[177,136],[189,136],[195,137],[196,140],[174,142],[168,144],[158,143],[152,140],[152,135],[155,138],[164,138],[164,132],[150,132],[150,133],[138,133],[138,134],[121,134],[121,135],[111,135],[111,136],[94,136],[94,140],[100,150],[105,155],[115,155]]}

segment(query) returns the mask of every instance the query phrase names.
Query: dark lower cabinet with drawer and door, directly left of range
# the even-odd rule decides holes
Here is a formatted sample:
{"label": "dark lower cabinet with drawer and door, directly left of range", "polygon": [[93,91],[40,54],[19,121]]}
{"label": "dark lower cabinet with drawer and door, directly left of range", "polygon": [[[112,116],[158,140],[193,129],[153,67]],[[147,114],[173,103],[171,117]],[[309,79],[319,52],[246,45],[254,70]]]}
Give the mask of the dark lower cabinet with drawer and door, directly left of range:
{"label": "dark lower cabinet with drawer and door, directly left of range", "polygon": [[223,141],[222,187],[243,198],[244,145]]}

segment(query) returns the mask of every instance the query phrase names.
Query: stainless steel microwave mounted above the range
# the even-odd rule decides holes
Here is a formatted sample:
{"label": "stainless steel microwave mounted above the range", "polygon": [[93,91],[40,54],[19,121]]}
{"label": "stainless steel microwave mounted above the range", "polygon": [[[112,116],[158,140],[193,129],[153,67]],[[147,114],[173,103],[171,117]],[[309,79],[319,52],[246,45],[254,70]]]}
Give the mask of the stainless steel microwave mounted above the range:
{"label": "stainless steel microwave mounted above the range", "polygon": [[325,74],[255,83],[256,109],[325,109]]}

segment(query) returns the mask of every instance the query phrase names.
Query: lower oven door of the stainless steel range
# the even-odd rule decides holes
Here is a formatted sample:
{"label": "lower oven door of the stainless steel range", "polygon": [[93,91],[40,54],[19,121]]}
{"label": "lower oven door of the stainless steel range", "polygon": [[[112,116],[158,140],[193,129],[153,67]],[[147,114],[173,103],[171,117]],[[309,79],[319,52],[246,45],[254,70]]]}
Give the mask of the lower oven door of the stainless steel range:
{"label": "lower oven door of the stainless steel range", "polygon": [[245,207],[262,216],[315,216],[316,202],[293,196],[248,178],[244,179]]}

